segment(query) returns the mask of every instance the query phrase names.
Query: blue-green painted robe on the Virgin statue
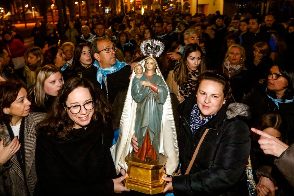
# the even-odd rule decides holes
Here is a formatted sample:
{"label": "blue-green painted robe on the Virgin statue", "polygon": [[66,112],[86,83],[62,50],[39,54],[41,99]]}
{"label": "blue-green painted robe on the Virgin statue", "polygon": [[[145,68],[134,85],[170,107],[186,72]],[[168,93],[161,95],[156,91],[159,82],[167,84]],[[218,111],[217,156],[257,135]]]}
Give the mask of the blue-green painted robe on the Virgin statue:
{"label": "blue-green painted robe on the Virgin statue", "polygon": [[[141,85],[140,81],[149,81],[157,85],[158,92],[156,93],[150,87]],[[134,77],[131,93],[133,99],[138,102],[135,120],[135,134],[138,139],[138,146],[141,147],[148,128],[149,139],[158,159],[163,104],[166,102],[168,95],[166,84],[161,76],[154,74],[148,79],[143,73],[141,78]]]}

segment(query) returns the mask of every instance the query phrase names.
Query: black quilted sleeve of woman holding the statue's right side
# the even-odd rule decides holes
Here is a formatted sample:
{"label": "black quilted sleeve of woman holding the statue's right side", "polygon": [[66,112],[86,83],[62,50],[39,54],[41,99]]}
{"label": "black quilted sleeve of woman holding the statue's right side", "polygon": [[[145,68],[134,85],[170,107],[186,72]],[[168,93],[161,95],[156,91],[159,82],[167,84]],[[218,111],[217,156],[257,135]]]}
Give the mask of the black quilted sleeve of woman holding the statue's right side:
{"label": "black quilted sleeve of woman holding the statue's right side", "polygon": [[234,120],[224,125],[224,129],[214,164],[196,174],[173,177],[175,194],[217,195],[238,182],[245,172],[250,153],[249,128],[243,121]]}

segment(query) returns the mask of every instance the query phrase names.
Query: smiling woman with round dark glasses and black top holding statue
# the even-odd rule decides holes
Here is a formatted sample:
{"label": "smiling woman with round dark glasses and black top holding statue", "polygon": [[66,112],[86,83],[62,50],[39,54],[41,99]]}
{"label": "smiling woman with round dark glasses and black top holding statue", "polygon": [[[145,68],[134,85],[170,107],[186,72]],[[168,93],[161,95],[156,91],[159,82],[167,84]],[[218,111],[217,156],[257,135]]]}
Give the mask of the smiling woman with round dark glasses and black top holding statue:
{"label": "smiling woman with round dark glasses and black top holding statue", "polygon": [[128,191],[116,178],[110,146],[111,112],[82,78],[66,82],[52,110],[36,126],[34,195],[112,195]]}

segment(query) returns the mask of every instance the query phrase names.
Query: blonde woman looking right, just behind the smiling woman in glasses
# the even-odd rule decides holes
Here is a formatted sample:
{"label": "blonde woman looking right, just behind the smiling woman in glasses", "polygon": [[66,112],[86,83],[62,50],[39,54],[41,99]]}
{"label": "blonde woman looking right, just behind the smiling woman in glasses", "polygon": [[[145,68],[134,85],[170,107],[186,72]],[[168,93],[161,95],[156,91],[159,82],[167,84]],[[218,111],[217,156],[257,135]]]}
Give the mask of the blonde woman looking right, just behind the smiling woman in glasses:
{"label": "blonde woman looking right, just behind the smiling woman in glasses", "polygon": [[61,70],[52,65],[45,65],[37,70],[34,86],[29,89],[32,110],[47,112],[64,81]]}

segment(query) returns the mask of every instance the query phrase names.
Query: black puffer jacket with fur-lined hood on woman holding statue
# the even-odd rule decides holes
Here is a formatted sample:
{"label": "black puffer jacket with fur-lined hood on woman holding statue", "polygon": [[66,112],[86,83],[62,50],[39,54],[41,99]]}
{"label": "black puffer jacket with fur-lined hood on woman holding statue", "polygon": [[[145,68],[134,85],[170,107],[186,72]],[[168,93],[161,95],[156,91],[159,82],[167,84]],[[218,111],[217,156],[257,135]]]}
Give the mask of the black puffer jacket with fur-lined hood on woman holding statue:
{"label": "black puffer jacket with fur-lined hood on woman holding statue", "polygon": [[245,104],[225,103],[217,114],[192,135],[190,115],[195,93],[179,105],[182,114],[178,145],[184,174],[204,131],[209,131],[188,175],[172,179],[175,195],[248,195],[245,168],[250,153],[250,132]]}

